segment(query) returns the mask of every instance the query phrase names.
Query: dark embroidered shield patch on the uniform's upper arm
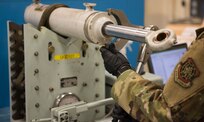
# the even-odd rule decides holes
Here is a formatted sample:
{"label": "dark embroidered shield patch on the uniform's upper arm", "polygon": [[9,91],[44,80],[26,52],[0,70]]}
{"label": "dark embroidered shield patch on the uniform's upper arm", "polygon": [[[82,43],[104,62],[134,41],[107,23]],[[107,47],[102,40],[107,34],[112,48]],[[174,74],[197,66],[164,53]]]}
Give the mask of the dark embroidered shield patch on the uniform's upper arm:
{"label": "dark embroidered shield patch on the uniform's upper arm", "polygon": [[200,71],[192,58],[188,58],[184,63],[177,65],[175,69],[175,82],[184,88],[192,86],[192,81],[199,77]]}

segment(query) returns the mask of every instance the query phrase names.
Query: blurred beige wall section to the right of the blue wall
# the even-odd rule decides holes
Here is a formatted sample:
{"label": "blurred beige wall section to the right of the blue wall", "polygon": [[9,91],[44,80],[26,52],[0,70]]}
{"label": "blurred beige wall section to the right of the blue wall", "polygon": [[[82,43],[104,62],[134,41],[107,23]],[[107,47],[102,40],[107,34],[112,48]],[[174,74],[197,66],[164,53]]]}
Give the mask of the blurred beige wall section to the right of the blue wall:
{"label": "blurred beige wall section to the right of the blue wall", "polygon": [[[185,1],[185,6],[182,1]],[[173,20],[189,17],[190,0],[145,0],[145,25],[164,28]]]}

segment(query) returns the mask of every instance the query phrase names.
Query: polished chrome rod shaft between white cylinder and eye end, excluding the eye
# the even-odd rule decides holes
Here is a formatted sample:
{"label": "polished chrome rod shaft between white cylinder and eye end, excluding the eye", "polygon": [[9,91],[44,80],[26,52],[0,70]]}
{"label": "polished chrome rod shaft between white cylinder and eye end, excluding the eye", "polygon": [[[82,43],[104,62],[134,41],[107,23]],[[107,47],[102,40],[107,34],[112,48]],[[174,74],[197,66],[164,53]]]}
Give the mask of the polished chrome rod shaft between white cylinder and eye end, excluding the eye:
{"label": "polished chrome rod shaft between white cylinder and eye end, excluding the eye", "polygon": [[104,34],[119,38],[125,38],[132,41],[139,41],[145,43],[145,38],[150,32],[149,30],[134,28],[121,25],[105,25],[103,28]]}

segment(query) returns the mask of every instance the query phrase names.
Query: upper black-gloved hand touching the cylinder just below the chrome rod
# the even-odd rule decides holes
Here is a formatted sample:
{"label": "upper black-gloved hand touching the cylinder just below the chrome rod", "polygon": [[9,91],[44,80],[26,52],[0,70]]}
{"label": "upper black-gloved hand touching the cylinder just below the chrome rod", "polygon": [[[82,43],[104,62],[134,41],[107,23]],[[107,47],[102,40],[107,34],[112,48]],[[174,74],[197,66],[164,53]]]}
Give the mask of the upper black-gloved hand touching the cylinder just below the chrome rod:
{"label": "upper black-gloved hand touching the cylinder just below the chrome rod", "polygon": [[100,48],[106,70],[114,76],[119,76],[124,71],[131,69],[128,60],[115,49],[114,44]]}

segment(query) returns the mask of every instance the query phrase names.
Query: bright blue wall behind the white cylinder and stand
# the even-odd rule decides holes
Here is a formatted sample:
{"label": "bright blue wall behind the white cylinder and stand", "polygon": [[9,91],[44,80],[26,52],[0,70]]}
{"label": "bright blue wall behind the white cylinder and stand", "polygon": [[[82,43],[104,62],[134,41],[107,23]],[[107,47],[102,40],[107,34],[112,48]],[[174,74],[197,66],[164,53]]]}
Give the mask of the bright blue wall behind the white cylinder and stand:
{"label": "bright blue wall behind the white cylinder and stand", "polygon": [[[83,2],[97,3],[95,10],[108,8],[123,10],[133,24],[143,25],[144,0],[41,0],[45,4],[64,3],[73,8],[84,8]],[[0,108],[9,106],[9,76],[8,76],[8,48],[6,21],[18,24],[24,23],[24,9],[32,0],[0,0]],[[136,65],[138,44],[131,45],[132,51],[127,50],[128,59],[132,66]]]}

